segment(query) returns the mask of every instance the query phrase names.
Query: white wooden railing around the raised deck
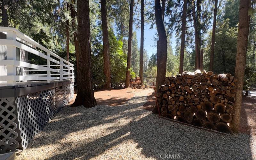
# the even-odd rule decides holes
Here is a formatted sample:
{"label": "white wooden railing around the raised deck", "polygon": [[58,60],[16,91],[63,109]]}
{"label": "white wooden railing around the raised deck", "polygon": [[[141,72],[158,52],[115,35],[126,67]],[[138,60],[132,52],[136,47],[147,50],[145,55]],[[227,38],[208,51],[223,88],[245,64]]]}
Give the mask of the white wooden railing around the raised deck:
{"label": "white wooden railing around the raised deck", "polygon": [[[64,60],[57,54],[21,33],[16,28],[0,27],[0,31],[6,32],[6,39],[0,39],[0,45],[7,46],[6,60],[0,60],[0,65],[6,66],[7,70],[6,75],[0,76],[0,81],[2,82],[1,84],[3,84],[3,81],[5,81],[4,84],[6,85],[16,85],[17,81],[22,83],[31,83],[32,81],[47,81],[49,83],[51,80],[63,81],[64,79],[74,79],[74,65],[72,63]],[[22,40],[22,42],[25,41],[28,45],[20,43],[19,41],[16,41],[16,39]],[[31,45],[35,46],[36,49],[29,47]],[[25,50],[46,59],[47,64],[36,65],[16,60],[16,48],[20,48],[21,50]],[[44,51],[45,53],[41,52],[40,50]],[[54,65],[50,65],[50,62],[53,62]],[[16,75],[17,67],[24,68],[22,76]],[[45,73],[47,73],[37,74],[39,71],[45,71]]]}

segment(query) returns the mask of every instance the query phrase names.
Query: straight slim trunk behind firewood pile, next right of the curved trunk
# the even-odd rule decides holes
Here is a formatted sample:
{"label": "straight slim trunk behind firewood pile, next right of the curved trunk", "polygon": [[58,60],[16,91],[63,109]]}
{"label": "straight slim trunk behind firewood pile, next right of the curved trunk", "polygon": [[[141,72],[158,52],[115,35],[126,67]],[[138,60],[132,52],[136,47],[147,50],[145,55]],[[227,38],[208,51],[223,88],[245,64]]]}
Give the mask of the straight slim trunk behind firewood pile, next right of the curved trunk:
{"label": "straight slim trunk behind firewood pile, next right of the curved trunk", "polygon": [[182,27],[181,27],[181,45],[180,45],[180,71],[183,72],[183,63],[184,63],[184,49],[185,49],[185,32],[186,32],[186,16],[187,16],[187,2],[184,1],[183,4],[183,13],[182,13]]}

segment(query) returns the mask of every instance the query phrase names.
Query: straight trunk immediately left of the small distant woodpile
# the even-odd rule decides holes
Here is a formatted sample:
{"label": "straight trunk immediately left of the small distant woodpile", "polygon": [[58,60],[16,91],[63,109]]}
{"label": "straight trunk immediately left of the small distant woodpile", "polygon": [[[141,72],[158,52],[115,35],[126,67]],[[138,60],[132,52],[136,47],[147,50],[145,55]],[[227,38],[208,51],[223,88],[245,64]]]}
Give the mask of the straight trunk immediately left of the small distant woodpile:
{"label": "straight trunk immediately left of the small distant woodpile", "polygon": [[133,0],[130,2],[130,19],[129,19],[129,35],[128,35],[128,53],[127,67],[124,88],[130,87],[130,68],[131,68],[131,52],[132,52],[132,23],[133,23]]}

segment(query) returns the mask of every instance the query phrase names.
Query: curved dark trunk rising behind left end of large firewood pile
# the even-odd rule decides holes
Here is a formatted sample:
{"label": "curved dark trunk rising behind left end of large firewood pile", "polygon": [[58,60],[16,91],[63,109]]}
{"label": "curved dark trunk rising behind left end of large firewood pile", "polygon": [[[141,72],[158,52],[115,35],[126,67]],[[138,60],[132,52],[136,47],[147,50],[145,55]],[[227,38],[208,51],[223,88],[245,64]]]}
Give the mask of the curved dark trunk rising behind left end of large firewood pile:
{"label": "curved dark trunk rising behind left end of large firewood pile", "polygon": [[167,59],[167,36],[161,11],[160,1],[155,0],[156,28],[159,36],[159,45],[157,47],[157,88],[164,84]]}

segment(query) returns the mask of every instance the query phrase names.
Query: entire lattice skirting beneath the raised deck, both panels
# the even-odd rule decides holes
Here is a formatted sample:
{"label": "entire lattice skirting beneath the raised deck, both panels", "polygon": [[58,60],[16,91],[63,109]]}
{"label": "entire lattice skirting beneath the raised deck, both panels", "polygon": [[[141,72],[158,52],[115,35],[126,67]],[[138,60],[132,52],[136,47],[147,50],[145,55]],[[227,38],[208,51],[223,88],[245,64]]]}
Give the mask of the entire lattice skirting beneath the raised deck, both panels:
{"label": "entire lattice skirting beneath the raised deck, both panels", "polygon": [[19,97],[1,98],[1,154],[27,148],[45,124],[74,98],[74,83]]}

